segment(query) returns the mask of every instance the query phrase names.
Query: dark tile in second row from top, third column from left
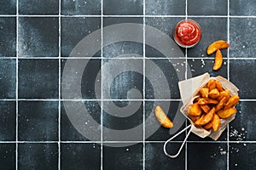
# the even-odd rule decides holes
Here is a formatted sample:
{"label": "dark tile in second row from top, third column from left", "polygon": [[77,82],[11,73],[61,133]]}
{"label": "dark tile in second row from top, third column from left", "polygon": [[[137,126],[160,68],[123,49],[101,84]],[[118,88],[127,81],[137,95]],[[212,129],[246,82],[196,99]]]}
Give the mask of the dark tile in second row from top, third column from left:
{"label": "dark tile in second row from top, third column from left", "polygon": [[[84,37],[90,35],[93,31],[101,29],[101,18],[93,17],[62,17],[61,18],[61,56],[67,57],[72,52],[73,48],[84,39]],[[101,42],[101,31],[98,31],[95,36],[96,42]],[[94,38],[93,37],[93,38]],[[99,47],[99,50],[101,47]],[[98,50],[98,51],[99,51]],[[83,54],[83,51],[78,51],[78,57],[92,57],[88,54]],[[82,53],[82,54],[81,54]],[[101,57],[101,53],[95,54],[96,57]],[[73,54],[73,56],[76,56]]]}

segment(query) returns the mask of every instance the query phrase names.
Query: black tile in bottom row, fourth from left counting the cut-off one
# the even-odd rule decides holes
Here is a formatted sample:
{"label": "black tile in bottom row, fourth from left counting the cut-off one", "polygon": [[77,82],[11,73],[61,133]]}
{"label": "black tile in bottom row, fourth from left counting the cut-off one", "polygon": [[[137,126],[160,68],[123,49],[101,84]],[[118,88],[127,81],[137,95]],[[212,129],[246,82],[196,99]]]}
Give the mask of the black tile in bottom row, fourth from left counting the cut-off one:
{"label": "black tile in bottom row, fourth from left counting the cut-off one", "polygon": [[143,169],[143,144],[125,147],[103,146],[103,169]]}

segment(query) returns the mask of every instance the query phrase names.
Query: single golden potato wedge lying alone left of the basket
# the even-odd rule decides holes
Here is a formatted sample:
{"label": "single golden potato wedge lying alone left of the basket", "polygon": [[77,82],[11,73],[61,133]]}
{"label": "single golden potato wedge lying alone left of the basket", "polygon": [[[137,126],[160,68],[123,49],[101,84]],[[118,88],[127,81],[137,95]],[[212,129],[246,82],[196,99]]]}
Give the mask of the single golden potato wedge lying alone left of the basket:
{"label": "single golden potato wedge lying alone left of the basket", "polygon": [[160,105],[157,105],[154,109],[154,114],[156,119],[160,122],[163,127],[171,128],[173,127],[173,123],[169,117],[166,116],[166,113],[162,110]]}

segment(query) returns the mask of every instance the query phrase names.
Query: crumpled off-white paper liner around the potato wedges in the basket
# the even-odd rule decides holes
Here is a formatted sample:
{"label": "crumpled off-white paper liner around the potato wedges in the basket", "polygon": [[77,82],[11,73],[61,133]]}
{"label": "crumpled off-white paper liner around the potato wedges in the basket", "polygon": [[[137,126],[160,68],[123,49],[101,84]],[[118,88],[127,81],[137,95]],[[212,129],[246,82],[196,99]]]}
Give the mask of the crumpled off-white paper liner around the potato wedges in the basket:
{"label": "crumpled off-white paper liner around the potato wedges in the basket", "polygon": [[[218,80],[219,82],[222,83],[224,89],[229,89],[230,94],[238,94],[238,88],[236,86],[229,82],[227,79],[224,77],[210,77],[208,73],[205,73],[201,76],[198,77],[193,77],[188,80],[184,80],[181,82],[178,82],[178,87],[179,91],[181,94],[181,98],[183,100],[183,107],[181,108],[181,112],[183,113],[184,116],[186,116],[188,119],[188,110],[189,110],[189,105],[193,104],[193,99],[195,98],[195,95],[198,94],[200,88],[204,87],[207,82],[210,79],[215,79]],[[236,114],[233,116],[230,116],[227,119],[222,119],[221,120],[221,126],[219,127],[218,131],[212,132],[212,131],[207,131],[202,127],[195,127],[194,122],[192,122],[189,119],[189,122],[192,124],[191,132],[195,133],[196,135],[200,136],[201,138],[205,138],[209,136],[210,138],[217,140],[218,137],[221,135],[221,133],[224,132],[224,129],[227,127],[227,125],[235,119]]]}

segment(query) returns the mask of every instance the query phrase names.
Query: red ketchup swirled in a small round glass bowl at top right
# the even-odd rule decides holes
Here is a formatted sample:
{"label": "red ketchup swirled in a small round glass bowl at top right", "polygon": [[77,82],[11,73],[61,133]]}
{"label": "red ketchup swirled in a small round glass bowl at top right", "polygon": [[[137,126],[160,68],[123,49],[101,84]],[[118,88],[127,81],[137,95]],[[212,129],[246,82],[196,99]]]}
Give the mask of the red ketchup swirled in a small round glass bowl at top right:
{"label": "red ketchup swirled in a small round glass bowl at top right", "polygon": [[192,48],[201,39],[201,27],[195,20],[181,20],[173,33],[175,42],[183,48]]}

